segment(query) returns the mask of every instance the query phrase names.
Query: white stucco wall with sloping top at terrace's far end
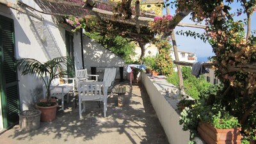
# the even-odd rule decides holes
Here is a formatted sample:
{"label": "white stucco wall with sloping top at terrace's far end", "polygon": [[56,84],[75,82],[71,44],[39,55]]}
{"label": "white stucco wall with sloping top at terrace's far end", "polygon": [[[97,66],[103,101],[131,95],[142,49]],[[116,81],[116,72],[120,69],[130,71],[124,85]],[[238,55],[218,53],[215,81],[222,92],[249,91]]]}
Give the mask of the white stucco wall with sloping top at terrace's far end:
{"label": "white stucco wall with sloping top at terrace's far end", "polygon": [[[103,76],[104,68],[116,67],[116,79],[120,79],[119,67],[124,67],[124,60],[119,56],[113,54],[99,43],[83,36],[84,45],[84,68],[87,68],[89,74],[91,67],[97,67],[96,74],[100,75],[100,79]],[[124,68],[125,71],[125,68]]]}

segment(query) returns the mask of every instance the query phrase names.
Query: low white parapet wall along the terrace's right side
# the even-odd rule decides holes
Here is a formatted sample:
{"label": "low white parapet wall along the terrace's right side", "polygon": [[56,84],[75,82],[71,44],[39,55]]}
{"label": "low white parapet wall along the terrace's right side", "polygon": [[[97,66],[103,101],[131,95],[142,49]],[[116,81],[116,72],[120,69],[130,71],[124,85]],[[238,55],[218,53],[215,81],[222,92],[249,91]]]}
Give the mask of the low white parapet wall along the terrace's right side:
{"label": "low white parapet wall along the terrace's right side", "polygon": [[[182,130],[179,124],[179,112],[177,109],[177,100],[164,97],[159,90],[172,88],[165,79],[150,79],[144,72],[141,72],[142,82],[145,86],[152,106],[154,107],[157,117],[163,126],[169,143],[185,144],[189,142],[189,132]],[[169,99],[169,100],[168,100]]]}

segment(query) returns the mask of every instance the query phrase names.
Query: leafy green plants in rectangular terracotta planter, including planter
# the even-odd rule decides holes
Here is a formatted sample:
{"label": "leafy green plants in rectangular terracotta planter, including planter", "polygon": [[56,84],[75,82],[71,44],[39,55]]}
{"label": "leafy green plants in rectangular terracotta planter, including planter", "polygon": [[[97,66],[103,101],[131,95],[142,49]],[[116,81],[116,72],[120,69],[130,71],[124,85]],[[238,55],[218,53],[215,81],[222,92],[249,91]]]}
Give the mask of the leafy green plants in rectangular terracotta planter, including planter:
{"label": "leafy green plants in rectangular terracotta planter, including planter", "polygon": [[218,93],[209,93],[205,92],[207,96],[201,97],[180,113],[180,124],[183,124],[184,131],[190,132],[191,143],[197,135],[210,144],[241,143],[241,124],[238,118],[221,106]]}

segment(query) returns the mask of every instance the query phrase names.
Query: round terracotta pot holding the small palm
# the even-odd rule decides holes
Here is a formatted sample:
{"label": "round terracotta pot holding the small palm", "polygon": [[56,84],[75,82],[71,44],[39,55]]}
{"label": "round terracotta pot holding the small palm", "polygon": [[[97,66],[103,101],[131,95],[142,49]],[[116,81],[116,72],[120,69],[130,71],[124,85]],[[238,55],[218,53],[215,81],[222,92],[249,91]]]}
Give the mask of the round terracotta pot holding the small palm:
{"label": "round terracotta pot holding the small palm", "polygon": [[57,102],[56,105],[49,107],[37,106],[36,104],[36,108],[41,111],[41,122],[52,122],[56,118],[57,106]]}

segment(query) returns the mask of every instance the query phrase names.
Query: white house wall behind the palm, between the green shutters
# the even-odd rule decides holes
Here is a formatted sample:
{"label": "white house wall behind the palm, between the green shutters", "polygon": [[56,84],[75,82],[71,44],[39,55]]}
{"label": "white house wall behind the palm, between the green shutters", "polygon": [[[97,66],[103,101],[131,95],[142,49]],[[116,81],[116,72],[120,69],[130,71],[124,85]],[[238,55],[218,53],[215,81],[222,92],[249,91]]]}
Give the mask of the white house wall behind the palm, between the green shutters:
{"label": "white house wall behind the palm, between the green shutters", "polygon": [[[16,1],[11,2],[16,3]],[[23,2],[31,7],[39,8],[34,1]],[[0,15],[13,19],[17,59],[35,58],[44,62],[58,56],[66,56],[65,30],[70,31],[70,29],[55,24],[53,22],[55,17],[36,13],[39,18],[44,18],[36,19],[1,4]],[[80,40],[79,34],[74,35],[74,57],[77,61],[81,61]],[[81,65],[79,64],[77,67],[81,67]],[[34,77],[20,76],[20,73],[18,73],[18,79],[21,109],[29,109],[34,106],[39,98],[42,98],[42,82]]]}

